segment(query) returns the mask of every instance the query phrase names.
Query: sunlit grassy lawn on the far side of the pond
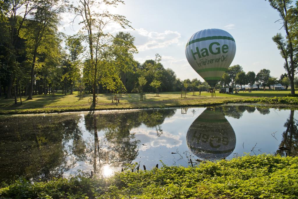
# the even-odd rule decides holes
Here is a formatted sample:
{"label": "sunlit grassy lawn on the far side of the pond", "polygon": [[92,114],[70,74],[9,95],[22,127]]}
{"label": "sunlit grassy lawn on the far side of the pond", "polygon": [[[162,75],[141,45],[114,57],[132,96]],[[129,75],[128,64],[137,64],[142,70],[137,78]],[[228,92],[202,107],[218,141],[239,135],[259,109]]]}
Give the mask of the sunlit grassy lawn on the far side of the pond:
{"label": "sunlit grassy lawn on the far side of the pond", "polygon": [[[224,103],[265,103],[271,105],[298,105],[296,97],[285,97],[290,91],[253,91],[252,93],[241,92],[239,94],[220,94],[211,97],[210,93],[201,92],[201,95],[192,96],[187,93],[186,98],[181,98],[180,92],[161,93],[156,97],[155,93],[146,94],[146,101],[140,101],[139,94],[122,94],[120,103],[112,103],[111,96],[98,94],[98,104],[95,110],[107,109],[130,109],[130,108],[164,108],[180,106],[208,106],[220,105]],[[76,94],[63,95],[58,93],[55,97],[52,95],[35,95],[33,100],[24,100],[21,105],[18,101],[14,105],[14,99],[0,98],[0,114],[30,114],[30,113],[61,113],[70,111],[89,111],[91,104],[88,99],[91,94],[79,99]],[[19,100],[19,98],[18,98]]]}

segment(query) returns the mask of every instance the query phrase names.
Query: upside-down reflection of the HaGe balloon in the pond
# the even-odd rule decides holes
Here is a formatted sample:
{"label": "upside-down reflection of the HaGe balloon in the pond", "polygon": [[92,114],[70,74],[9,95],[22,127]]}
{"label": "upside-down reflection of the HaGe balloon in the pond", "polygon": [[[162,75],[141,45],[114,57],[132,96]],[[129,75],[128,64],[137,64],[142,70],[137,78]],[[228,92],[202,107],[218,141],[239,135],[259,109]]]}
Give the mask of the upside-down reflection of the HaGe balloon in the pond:
{"label": "upside-down reflection of the HaGe balloon in the pond", "polygon": [[190,125],[186,142],[199,158],[219,159],[229,156],[236,145],[235,132],[218,108],[207,108]]}

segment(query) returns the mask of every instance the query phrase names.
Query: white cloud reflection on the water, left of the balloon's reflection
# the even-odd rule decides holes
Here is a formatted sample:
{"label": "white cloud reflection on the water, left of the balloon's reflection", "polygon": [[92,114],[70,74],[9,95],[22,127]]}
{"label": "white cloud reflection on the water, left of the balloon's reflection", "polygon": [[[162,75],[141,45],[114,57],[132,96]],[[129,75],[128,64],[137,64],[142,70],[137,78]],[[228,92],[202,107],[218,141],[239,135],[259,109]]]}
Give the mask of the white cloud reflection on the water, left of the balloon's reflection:
{"label": "white cloud reflection on the water, left of the balloon's reflection", "polygon": [[178,147],[182,144],[181,135],[173,135],[167,131],[163,131],[160,137],[156,136],[154,129],[138,128],[132,132],[136,133],[136,139],[141,140],[139,150],[145,151],[151,147],[166,146],[167,148]]}

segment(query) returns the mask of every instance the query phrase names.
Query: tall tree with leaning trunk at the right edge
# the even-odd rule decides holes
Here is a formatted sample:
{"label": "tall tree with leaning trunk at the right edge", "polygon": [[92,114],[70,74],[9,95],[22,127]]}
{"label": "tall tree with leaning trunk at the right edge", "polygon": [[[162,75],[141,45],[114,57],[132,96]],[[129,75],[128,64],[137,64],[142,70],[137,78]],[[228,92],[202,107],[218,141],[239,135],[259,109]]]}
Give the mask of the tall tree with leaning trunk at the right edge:
{"label": "tall tree with leaning trunk at the right edge", "polygon": [[294,74],[297,69],[297,60],[295,60],[295,53],[297,53],[297,49],[293,42],[297,41],[297,7],[292,7],[291,0],[268,0],[271,7],[273,7],[280,15],[280,19],[277,21],[281,21],[283,24],[283,28],[285,29],[286,36],[283,37],[281,33],[277,33],[272,40],[277,44],[277,48],[280,50],[281,56],[285,59],[284,68],[288,73],[288,78],[291,84],[291,94],[295,94],[294,89]]}

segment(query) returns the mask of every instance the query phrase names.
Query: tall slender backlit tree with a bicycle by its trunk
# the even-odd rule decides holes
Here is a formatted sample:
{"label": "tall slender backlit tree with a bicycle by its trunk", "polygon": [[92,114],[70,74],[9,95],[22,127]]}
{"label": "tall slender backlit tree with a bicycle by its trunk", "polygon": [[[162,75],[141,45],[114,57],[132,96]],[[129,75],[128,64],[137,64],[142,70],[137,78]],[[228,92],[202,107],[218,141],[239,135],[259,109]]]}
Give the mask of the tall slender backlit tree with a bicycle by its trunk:
{"label": "tall slender backlit tree with a bicycle by its trunk", "polygon": [[[92,95],[93,103],[92,107],[95,107],[95,87],[97,85],[97,70],[100,63],[104,64],[107,60],[109,53],[113,53],[109,46],[109,43],[112,41],[112,37],[108,32],[105,32],[105,27],[110,23],[118,23],[122,28],[129,25],[129,21],[125,19],[122,15],[111,14],[107,10],[103,10],[102,5],[111,5],[116,7],[118,3],[123,3],[121,0],[80,0],[77,2],[77,5],[72,6],[76,16],[81,17],[80,24],[83,24],[83,27],[80,31],[81,38],[83,38],[89,47],[89,52],[87,56],[89,57],[91,64],[92,77]],[[111,56],[111,55],[110,55]],[[106,66],[111,66],[110,64]],[[103,71],[103,70],[102,70]],[[108,74],[108,73],[106,73]],[[102,76],[103,77],[103,76]],[[103,79],[104,80],[104,79]],[[104,80],[105,81],[105,80]],[[108,81],[111,82],[111,81]],[[105,81],[107,83],[107,81]]]}

